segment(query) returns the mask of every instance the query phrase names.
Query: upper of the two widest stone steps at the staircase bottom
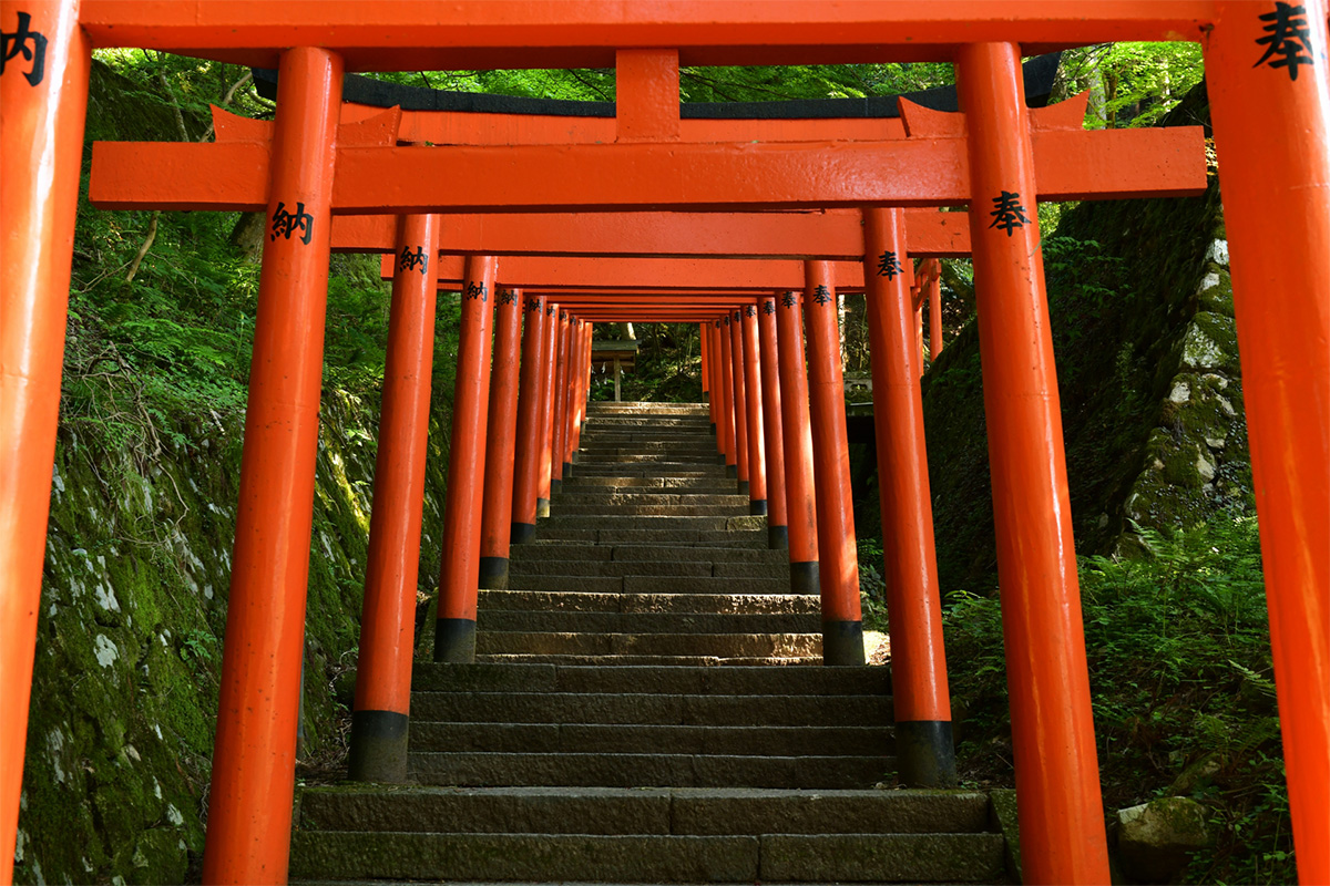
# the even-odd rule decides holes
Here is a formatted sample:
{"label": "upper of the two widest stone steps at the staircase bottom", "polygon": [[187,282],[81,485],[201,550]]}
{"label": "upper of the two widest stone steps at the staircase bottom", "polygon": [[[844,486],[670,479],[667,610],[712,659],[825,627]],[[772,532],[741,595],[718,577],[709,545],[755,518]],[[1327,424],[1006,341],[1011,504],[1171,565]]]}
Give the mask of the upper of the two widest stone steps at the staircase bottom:
{"label": "upper of the two widest stone steps at the staircase bottom", "polygon": [[761,836],[983,833],[968,790],[378,788],[301,792],[302,830]]}

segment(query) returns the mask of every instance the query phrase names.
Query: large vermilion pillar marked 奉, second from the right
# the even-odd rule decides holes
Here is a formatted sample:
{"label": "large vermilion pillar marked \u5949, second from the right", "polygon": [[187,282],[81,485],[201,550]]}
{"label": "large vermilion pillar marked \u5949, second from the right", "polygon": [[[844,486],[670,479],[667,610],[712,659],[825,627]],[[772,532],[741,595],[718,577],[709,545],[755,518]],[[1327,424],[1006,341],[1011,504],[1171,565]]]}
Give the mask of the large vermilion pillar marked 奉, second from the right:
{"label": "large vermilion pillar marked \u5949, second from the right", "polygon": [[963,46],[956,80],[970,126],[971,248],[1024,875],[1107,883],[1020,50]]}

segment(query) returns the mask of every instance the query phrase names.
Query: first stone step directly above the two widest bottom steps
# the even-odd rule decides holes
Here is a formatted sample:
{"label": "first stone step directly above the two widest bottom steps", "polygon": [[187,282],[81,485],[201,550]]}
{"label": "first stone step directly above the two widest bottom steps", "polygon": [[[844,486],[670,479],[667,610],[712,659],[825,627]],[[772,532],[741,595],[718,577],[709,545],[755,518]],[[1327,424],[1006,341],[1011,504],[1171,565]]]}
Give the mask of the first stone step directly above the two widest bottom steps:
{"label": "first stone step directly above the two widest bottom steps", "polygon": [[890,756],[734,756],[672,753],[412,753],[430,785],[606,788],[867,788],[895,769]]}

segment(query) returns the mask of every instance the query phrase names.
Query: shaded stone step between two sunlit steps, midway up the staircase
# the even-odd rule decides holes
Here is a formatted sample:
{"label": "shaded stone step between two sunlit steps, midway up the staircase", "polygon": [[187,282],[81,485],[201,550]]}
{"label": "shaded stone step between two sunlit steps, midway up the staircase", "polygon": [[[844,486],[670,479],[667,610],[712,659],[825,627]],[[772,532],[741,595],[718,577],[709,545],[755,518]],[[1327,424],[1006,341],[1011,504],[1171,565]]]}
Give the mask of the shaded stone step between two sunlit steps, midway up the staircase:
{"label": "shaded stone step between two sunlit steps, midway up the staircase", "polygon": [[817,634],[822,616],[761,612],[587,612],[480,610],[476,630],[525,634]]}

